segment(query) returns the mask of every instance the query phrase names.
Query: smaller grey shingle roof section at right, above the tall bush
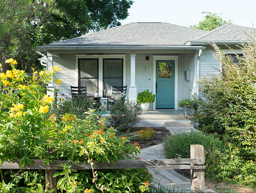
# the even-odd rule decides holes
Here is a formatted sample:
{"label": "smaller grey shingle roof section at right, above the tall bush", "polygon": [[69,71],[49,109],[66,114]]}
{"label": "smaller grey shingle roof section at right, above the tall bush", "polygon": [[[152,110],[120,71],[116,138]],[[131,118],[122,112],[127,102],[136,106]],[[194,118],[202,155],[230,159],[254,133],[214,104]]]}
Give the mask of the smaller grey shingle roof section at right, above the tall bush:
{"label": "smaller grey shingle roof section at right, above the tall bush", "polygon": [[244,27],[241,25],[235,25],[235,24],[224,24],[214,30],[211,30],[207,34],[204,34],[202,36],[199,36],[195,38],[194,40],[191,39],[193,42],[218,42],[218,41],[246,41],[247,36],[244,33],[246,32],[249,35],[253,34],[253,29],[250,27]]}

